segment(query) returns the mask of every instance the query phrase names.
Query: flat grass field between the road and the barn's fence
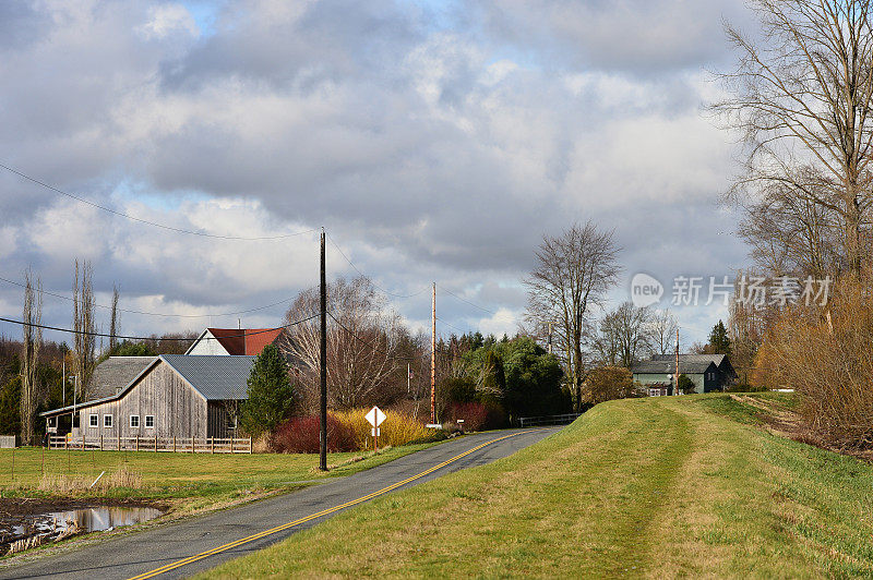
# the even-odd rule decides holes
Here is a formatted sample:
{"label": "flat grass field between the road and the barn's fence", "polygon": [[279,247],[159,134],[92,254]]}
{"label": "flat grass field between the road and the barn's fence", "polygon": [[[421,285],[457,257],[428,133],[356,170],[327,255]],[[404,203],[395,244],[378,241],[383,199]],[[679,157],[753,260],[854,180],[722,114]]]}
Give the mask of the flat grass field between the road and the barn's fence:
{"label": "flat grass field between the road and the barn's fence", "polygon": [[[430,444],[371,452],[331,454],[332,469],[318,471],[318,455],[171,454],[148,451],[67,451],[39,448],[0,449],[0,497],[199,499],[198,506],[252,493],[294,488],[299,482],[349,475],[422,449]],[[360,460],[357,460],[360,459]],[[93,490],[104,480],[117,485]],[[121,472],[122,478],[117,474]],[[103,481],[101,480],[101,483]]]}

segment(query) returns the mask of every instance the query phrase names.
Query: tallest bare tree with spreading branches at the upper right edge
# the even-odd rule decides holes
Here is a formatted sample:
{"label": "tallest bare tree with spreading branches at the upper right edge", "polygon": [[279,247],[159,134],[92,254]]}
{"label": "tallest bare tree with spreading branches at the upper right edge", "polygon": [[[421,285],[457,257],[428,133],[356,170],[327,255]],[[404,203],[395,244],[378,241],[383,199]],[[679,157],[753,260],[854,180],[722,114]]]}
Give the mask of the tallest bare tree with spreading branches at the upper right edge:
{"label": "tallest bare tree with spreading branches at the upper right edge", "polygon": [[750,0],[763,40],[727,27],[739,65],[721,75],[732,97],[714,105],[748,146],[732,198],[766,201],[778,192],[804,212],[811,204],[816,220],[836,216],[853,271],[869,252],[862,238],[872,201],[871,1]]}

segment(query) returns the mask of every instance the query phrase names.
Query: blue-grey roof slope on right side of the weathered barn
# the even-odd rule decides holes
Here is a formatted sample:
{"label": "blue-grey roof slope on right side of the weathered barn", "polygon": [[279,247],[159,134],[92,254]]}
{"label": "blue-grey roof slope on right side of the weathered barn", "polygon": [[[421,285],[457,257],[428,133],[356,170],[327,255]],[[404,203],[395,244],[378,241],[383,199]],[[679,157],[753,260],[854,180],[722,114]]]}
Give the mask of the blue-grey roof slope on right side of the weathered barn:
{"label": "blue-grey roof slope on right side of the weathered barn", "polygon": [[160,357],[207,400],[247,399],[256,357],[163,354]]}

